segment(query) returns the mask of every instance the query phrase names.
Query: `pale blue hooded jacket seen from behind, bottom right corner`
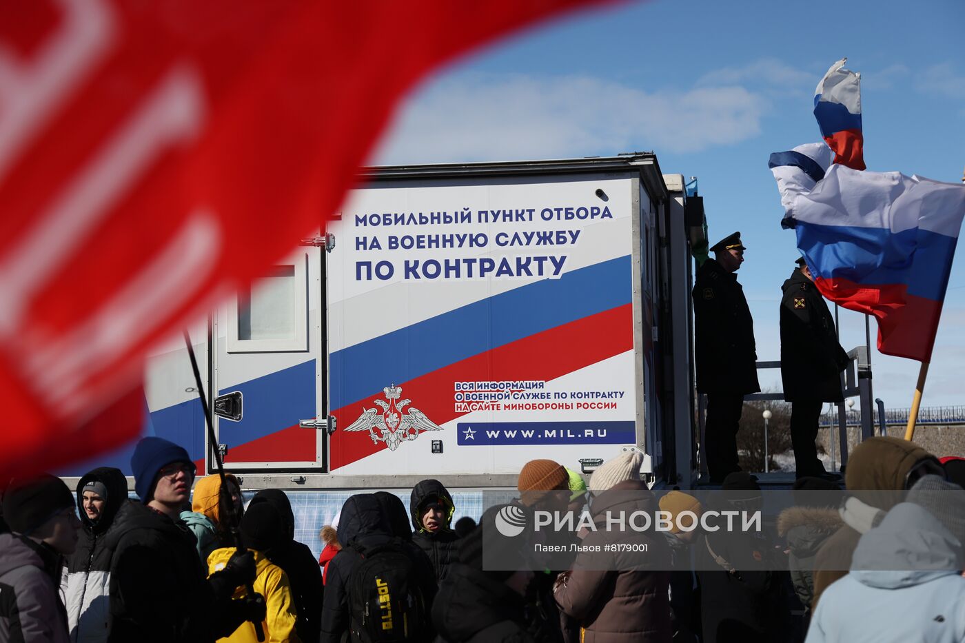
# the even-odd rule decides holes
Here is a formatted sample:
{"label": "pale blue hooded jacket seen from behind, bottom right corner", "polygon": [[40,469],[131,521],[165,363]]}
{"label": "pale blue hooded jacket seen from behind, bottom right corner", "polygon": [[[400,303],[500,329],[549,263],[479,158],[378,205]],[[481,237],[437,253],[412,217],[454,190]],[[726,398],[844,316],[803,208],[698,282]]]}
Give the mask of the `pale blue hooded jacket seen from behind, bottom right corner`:
{"label": "pale blue hooded jacket seen from behind, bottom right corner", "polygon": [[[883,571],[882,567],[899,571]],[[817,603],[807,643],[965,640],[962,547],[919,505],[903,502],[861,537],[852,571]]]}

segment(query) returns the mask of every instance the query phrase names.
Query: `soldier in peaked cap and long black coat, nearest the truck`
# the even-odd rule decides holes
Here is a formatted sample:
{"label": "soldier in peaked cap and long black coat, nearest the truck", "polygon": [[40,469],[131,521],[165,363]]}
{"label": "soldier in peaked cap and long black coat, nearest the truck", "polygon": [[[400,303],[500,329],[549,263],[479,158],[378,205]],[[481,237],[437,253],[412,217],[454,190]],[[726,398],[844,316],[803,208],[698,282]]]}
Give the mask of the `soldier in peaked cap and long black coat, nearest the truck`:
{"label": "soldier in peaked cap and long black coat, nearest the truck", "polygon": [[744,396],[757,393],[758,353],[754,320],[744,290],[733,274],[744,262],[740,233],[722,239],[697,269],[694,312],[697,317],[697,390],[707,396],[703,453],[710,482],[722,483],[737,464],[737,429]]}

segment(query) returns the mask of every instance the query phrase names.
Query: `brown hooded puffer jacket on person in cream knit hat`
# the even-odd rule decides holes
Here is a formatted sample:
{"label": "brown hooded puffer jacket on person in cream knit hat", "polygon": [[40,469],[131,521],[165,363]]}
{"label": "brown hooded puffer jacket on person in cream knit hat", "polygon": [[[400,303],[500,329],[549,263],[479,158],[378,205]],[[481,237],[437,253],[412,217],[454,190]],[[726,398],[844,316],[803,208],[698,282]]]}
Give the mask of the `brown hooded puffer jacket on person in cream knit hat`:
{"label": "brown hooded puffer jacket on person in cream knit hat", "polygon": [[655,532],[610,530],[606,514],[652,516],[657,501],[647,485],[625,480],[599,494],[592,516],[597,526],[583,545],[605,551],[606,545],[648,545],[648,553],[587,553],[576,556],[573,571],[557,586],[560,608],[586,630],[585,643],[663,643],[671,639],[670,572],[648,569],[648,561],[670,560],[667,540]]}

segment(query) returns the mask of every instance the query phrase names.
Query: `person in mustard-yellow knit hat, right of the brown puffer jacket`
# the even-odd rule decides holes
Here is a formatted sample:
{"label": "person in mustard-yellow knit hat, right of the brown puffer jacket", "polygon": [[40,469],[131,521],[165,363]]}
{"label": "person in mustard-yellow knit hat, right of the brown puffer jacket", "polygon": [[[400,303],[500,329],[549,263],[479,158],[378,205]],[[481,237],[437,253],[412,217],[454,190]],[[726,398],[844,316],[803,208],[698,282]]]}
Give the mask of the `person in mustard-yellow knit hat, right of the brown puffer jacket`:
{"label": "person in mustard-yellow knit hat, right of the brown puffer jacket", "polygon": [[671,529],[664,532],[671,550],[671,629],[675,641],[692,643],[701,631],[701,601],[694,572],[693,544],[701,536],[701,502],[679,489],[660,498],[660,511],[670,515]]}

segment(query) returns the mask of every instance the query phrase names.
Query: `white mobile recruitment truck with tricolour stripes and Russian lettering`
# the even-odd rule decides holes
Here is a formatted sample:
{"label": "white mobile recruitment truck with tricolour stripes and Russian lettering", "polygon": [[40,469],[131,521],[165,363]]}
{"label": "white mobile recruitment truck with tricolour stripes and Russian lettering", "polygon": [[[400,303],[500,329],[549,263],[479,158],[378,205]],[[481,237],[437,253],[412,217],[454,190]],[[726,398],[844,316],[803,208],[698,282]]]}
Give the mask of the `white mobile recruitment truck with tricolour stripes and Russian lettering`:
{"label": "white mobile recruitment truck with tricolour stripes and Russian lettering", "polygon": [[[703,205],[682,176],[624,154],[361,184],[326,235],[190,329],[211,401],[240,393],[215,429],[245,487],[514,487],[526,461],[590,471],[623,448],[691,484]],[[183,345],[156,351],[146,386],[146,431],[210,471]],[[127,471],[129,453],[69,474]]]}

